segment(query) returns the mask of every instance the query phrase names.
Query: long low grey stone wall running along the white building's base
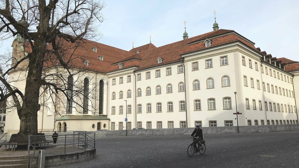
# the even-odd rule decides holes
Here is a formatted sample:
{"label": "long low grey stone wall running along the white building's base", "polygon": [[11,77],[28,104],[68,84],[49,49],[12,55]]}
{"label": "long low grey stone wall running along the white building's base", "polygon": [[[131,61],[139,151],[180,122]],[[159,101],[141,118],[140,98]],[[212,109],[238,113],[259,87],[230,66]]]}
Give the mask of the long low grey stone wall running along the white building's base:
{"label": "long low grey stone wall running along the white building's base", "polygon": [[[107,130],[96,131],[96,136],[135,136],[135,135],[172,135],[191,134],[194,128],[165,128],[165,129],[130,129],[130,130]],[[237,126],[231,127],[202,127],[204,134],[238,133]],[[299,131],[299,124],[283,125],[251,125],[239,126],[239,133],[276,132],[276,131]]]}

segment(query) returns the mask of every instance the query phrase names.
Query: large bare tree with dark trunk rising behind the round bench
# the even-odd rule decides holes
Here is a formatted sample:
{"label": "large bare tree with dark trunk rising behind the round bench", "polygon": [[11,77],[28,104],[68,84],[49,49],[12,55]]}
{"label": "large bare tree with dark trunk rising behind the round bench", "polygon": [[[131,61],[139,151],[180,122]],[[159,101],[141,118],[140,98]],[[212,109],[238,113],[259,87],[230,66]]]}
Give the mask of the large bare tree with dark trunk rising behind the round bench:
{"label": "large bare tree with dark trunk rising behind the round bench", "polygon": [[[83,61],[71,50],[83,39],[99,35],[95,34],[95,23],[103,21],[101,10],[105,4],[93,0],[0,1],[0,39],[17,36],[23,45],[22,51],[16,55],[13,52],[11,67],[0,69],[0,82],[7,90],[0,90],[0,101],[12,98],[20,119],[20,134],[36,134],[42,93],[61,93],[71,100],[67,95],[73,89],[67,87],[66,76],[74,75],[70,69],[77,61]],[[56,72],[51,72],[50,67],[55,67]],[[17,69],[26,71],[20,73],[26,77],[20,75],[20,80],[26,80],[24,92],[7,80],[7,75]],[[52,96],[47,99],[54,101]]]}

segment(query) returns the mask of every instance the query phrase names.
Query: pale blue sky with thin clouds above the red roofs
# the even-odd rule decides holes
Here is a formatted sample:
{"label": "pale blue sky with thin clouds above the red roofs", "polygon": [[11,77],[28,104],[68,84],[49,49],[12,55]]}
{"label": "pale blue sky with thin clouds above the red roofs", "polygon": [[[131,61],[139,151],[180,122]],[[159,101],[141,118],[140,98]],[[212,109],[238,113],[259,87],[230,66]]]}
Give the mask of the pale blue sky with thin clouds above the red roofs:
{"label": "pale blue sky with thin clouds above the red roofs", "polygon": [[[106,0],[106,20],[97,42],[130,50],[151,42],[163,46],[213,30],[213,11],[220,29],[235,30],[273,57],[299,61],[299,2],[295,0]],[[11,50],[12,40],[2,43]],[[1,45],[1,43],[0,43]],[[2,51],[4,51],[2,50]],[[0,51],[0,54],[2,54]]]}

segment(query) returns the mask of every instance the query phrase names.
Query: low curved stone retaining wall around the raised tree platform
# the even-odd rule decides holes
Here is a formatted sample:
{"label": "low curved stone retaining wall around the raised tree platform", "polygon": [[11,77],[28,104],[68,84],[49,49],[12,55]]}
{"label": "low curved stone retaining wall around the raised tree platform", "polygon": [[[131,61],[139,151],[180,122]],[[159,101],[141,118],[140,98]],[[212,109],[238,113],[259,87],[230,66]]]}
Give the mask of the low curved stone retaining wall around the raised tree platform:
{"label": "low curved stone retaining wall around the raised tree platform", "polygon": [[[96,157],[96,149],[86,149],[86,151],[83,152],[46,156],[45,167],[77,163],[77,162],[87,161],[89,159],[94,159],[95,157]],[[37,167],[38,164],[37,160],[38,157],[30,158],[31,168]]]}

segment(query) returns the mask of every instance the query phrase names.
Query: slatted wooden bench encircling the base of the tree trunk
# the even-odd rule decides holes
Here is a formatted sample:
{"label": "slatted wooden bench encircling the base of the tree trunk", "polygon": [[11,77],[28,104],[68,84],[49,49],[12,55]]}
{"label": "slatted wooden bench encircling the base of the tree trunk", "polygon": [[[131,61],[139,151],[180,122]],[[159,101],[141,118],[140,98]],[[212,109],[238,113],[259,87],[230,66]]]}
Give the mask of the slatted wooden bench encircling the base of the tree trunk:
{"label": "slatted wooden bench encircling the base of the tree trunk", "polygon": [[[49,145],[49,143],[53,142],[52,140],[46,140],[44,133],[38,133],[35,134],[37,136],[33,136],[30,139],[30,145],[35,148],[36,146],[40,146],[41,144],[44,144],[46,146]],[[0,143],[1,145],[5,145],[5,149],[10,149],[10,146],[12,146],[12,151],[16,149],[17,145],[28,145],[29,139],[28,135],[20,135],[20,134],[12,134],[9,142]]]}

